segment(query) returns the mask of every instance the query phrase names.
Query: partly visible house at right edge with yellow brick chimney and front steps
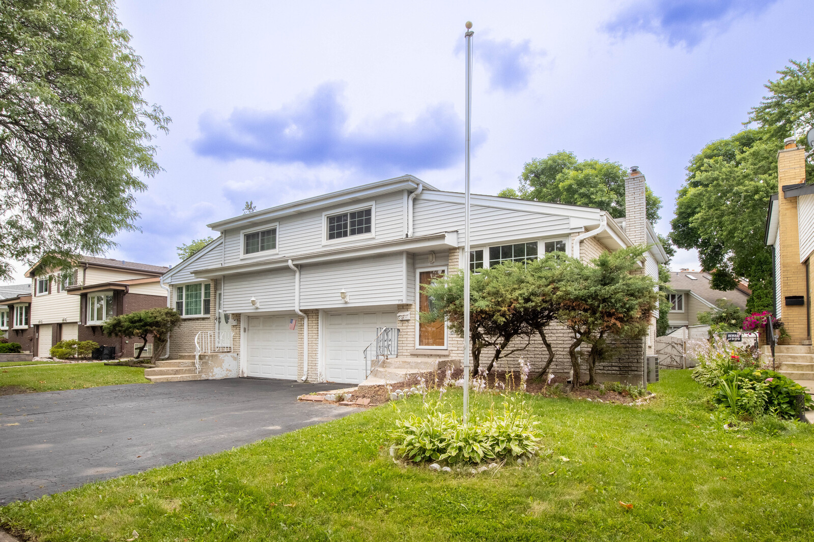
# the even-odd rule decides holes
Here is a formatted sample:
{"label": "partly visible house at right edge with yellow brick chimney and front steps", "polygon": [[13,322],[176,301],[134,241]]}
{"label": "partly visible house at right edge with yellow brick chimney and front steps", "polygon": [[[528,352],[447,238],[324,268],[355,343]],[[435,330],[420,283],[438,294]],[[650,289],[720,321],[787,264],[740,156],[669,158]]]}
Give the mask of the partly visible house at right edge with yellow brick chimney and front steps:
{"label": "partly visible house at right edge with yellow brick chimney and front steps", "polygon": [[786,138],[786,148],[777,153],[777,184],[777,194],[769,201],[764,237],[772,247],[774,314],[790,335],[777,346],[777,359],[783,374],[814,389],[814,184],[807,183],[806,151],[797,146],[794,137]]}

